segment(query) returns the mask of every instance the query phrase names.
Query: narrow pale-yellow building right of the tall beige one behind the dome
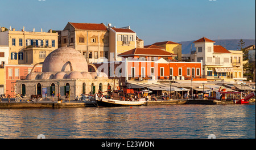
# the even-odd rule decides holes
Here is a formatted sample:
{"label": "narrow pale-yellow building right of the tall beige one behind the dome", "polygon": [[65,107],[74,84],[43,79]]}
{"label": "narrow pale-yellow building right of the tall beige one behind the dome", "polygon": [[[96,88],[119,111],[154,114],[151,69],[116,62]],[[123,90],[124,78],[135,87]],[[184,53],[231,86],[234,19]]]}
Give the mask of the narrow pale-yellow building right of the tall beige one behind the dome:
{"label": "narrow pale-yellow building right of the tall beige one behind the dome", "polygon": [[137,46],[136,33],[127,28],[109,28],[109,61],[122,61],[118,54]]}

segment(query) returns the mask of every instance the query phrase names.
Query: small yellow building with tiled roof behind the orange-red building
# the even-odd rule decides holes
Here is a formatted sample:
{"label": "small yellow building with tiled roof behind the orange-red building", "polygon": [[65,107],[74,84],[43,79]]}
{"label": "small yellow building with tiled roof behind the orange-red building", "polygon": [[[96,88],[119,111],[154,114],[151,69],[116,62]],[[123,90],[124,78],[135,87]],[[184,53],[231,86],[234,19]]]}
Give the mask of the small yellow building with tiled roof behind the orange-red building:
{"label": "small yellow building with tiled roof behind the orange-red building", "polygon": [[181,44],[172,41],[155,42],[152,45],[161,46],[166,49],[167,52],[177,55],[177,59],[181,60]]}

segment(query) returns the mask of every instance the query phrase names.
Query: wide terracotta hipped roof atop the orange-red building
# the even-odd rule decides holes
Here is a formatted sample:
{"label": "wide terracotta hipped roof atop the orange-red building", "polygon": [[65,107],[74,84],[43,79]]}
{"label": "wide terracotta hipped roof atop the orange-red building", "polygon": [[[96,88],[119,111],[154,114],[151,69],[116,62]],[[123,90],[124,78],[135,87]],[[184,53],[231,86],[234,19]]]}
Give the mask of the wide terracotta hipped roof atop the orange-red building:
{"label": "wide terracotta hipped roof atop the orange-red building", "polygon": [[176,54],[172,54],[170,52],[166,52],[162,49],[152,49],[152,48],[135,48],[128,50],[118,56],[134,56],[134,55],[145,55],[145,56],[164,56],[164,57],[172,57],[176,56]]}

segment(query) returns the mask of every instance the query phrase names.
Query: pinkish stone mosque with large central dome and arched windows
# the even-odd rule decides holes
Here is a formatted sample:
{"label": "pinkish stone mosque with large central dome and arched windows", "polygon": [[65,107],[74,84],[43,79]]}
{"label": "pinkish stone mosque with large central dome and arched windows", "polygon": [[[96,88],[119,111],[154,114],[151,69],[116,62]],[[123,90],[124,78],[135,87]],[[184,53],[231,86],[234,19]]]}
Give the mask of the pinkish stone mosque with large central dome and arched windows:
{"label": "pinkish stone mosque with large central dome and arched windows", "polygon": [[[43,65],[42,72],[34,72],[34,68]],[[88,72],[88,65],[96,72]],[[118,82],[115,82],[118,85]],[[37,63],[25,80],[16,80],[17,93],[27,95],[57,95],[68,93],[72,98],[81,93],[104,92],[113,85],[113,80],[104,72],[98,72],[92,63],[87,63],[85,57],[76,49],[62,47],[53,50],[44,62]]]}

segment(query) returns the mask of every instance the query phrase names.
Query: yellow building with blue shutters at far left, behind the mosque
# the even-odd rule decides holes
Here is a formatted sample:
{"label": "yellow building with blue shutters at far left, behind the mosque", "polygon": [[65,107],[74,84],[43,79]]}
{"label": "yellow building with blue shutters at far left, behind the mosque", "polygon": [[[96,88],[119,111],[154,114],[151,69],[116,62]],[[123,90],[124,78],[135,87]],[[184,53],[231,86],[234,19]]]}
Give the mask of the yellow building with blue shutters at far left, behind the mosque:
{"label": "yellow building with blue shutters at far left, behind the mosque", "polygon": [[9,64],[31,65],[43,62],[52,50],[57,48],[58,34],[33,31],[8,31],[0,32],[0,45],[9,46]]}

